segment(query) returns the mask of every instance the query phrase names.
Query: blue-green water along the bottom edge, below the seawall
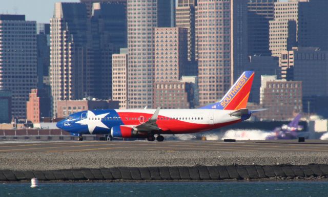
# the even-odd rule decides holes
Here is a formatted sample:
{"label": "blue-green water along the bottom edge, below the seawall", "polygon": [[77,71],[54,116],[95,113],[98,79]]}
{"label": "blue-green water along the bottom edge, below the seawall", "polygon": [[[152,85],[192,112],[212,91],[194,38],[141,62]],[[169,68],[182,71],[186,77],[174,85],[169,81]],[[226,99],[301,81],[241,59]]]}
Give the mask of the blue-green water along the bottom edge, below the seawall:
{"label": "blue-green water along the bottom edge, below the seawall", "polygon": [[169,182],[1,184],[0,196],[328,196],[328,182]]}

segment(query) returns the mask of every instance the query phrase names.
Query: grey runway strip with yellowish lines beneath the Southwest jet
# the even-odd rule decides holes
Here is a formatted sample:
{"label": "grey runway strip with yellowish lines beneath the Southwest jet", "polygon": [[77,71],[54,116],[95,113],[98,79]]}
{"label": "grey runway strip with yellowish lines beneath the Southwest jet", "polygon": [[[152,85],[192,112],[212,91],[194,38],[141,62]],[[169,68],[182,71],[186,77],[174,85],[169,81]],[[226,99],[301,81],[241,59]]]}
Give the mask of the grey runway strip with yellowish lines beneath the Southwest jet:
{"label": "grey runway strip with yellowish lines beneath the Southwest jet", "polygon": [[65,142],[0,142],[2,152],[106,152],[106,151],[270,151],[328,152],[328,141],[65,141]]}

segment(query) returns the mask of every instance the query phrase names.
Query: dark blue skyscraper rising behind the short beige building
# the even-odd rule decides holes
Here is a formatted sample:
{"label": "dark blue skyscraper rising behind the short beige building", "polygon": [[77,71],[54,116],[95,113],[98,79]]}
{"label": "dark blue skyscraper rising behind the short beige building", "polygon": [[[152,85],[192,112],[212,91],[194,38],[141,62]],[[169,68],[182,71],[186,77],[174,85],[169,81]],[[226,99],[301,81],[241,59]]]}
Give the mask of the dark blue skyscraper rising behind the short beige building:
{"label": "dark blue skyscraper rising behind the short beige building", "polygon": [[94,3],[87,36],[87,96],[112,97],[112,54],[127,47],[125,7]]}

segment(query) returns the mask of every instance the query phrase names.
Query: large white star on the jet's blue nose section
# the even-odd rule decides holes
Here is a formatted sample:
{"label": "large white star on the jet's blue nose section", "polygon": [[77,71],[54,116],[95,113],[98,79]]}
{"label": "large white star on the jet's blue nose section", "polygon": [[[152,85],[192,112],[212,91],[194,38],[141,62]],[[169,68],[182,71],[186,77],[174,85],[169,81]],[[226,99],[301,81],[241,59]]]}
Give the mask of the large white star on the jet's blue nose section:
{"label": "large white star on the jet's blue nose section", "polygon": [[88,125],[89,132],[92,134],[96,127],[108,128],[103,122],[101,122],[101,119],[109,114],[110,113],[95,115],[93,112],[88,111],[87,118],[77,121],[76,123]]}

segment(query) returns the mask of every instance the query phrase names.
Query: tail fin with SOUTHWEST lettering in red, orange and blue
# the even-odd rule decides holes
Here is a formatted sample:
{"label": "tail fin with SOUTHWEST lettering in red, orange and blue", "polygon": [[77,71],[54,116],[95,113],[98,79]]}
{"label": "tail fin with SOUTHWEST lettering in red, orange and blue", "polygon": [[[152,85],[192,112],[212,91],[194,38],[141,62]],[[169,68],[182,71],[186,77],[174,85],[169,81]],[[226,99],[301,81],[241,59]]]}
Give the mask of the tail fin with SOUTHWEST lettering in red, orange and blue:
{"label": "tail fin with SOUTHWEST lettering in red, orange and blue", "polygon": [[242,108],[246,108],[253,79],[254,71],[243,72],[235,84],[219,102],[200,108],[216,110],[240,110]]}

